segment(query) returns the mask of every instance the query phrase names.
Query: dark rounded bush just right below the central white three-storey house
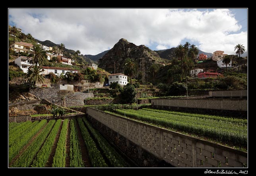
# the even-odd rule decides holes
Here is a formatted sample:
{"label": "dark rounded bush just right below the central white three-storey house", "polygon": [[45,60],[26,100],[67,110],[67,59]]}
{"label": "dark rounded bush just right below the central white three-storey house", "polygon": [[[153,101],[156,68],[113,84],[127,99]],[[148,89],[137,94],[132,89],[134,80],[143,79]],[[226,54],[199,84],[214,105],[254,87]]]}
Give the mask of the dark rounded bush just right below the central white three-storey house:
{"label": "dark rounded bush just right below the central white three-storey house", "polygon": [[123,103],[134,103],[136,101],[136,92],[134,85],[127,84],[120,94],[120,98],[122,99]]}

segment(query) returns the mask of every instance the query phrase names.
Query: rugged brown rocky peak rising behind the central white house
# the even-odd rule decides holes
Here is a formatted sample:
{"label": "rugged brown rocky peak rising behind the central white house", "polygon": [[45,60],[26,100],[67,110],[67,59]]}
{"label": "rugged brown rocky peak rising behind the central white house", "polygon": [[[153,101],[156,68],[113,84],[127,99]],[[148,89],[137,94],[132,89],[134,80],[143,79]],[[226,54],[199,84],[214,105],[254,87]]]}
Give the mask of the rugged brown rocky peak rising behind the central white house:
{"label": "rugged brown rocky peak rising behind the central white house", "polygon": [[[109,52],[99,59],[99,67],[109,73],[114,73],[115,65],[116,73],[124,73],[124,65],[128,57],[138,63],[140,71],[145,68],[145,72],[149,70],[153,63],[163,65],[166,62],[165,59],[162,59],[156,52],[146,46],[136,46],[121,38]],[[143,63],[145,63],[145,66]]]}

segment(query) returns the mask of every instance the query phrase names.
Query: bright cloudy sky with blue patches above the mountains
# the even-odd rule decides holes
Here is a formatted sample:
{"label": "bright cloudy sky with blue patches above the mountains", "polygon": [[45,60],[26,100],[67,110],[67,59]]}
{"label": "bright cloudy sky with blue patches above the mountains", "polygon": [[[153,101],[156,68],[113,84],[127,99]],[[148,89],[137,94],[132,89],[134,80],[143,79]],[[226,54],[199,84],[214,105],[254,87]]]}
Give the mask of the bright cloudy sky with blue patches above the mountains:
{"label": "bright cloudy sky with blue patches above the mountains", "polygon": [[81,54],[111,49],[120,38],[151,50],[186,41],[204,51],[247,51],[247,9],[9,9],[9,25]]}

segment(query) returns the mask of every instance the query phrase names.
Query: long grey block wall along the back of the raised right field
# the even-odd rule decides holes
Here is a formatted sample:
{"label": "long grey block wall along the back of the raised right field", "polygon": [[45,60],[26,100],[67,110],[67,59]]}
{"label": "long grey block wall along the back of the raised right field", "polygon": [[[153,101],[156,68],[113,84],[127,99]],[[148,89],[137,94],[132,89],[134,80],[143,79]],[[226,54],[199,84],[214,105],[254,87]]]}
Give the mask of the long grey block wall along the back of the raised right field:
{"label": "long grey block wall along the back of the raised right field", "polygon": [[247,111],[247,99],[151,99],[153,106]]}

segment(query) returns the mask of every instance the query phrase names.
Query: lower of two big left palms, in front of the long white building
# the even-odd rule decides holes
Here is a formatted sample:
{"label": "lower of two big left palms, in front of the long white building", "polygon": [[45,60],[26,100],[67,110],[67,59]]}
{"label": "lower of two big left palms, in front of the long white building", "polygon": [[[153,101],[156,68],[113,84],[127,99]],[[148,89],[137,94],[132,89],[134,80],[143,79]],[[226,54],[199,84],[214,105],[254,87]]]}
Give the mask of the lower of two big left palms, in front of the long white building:
{"label": "lower of two big left palms, in front of the long white building", "polygon": [[43,84],[44,77],[41,75],[41,73],[43,73],[41,69],[42,68],[37,65],[29,67],[29,71],[25,75],[25,78],[28,79],[27,82],[31,83],[33,86],[35,86],[37,81]]}

